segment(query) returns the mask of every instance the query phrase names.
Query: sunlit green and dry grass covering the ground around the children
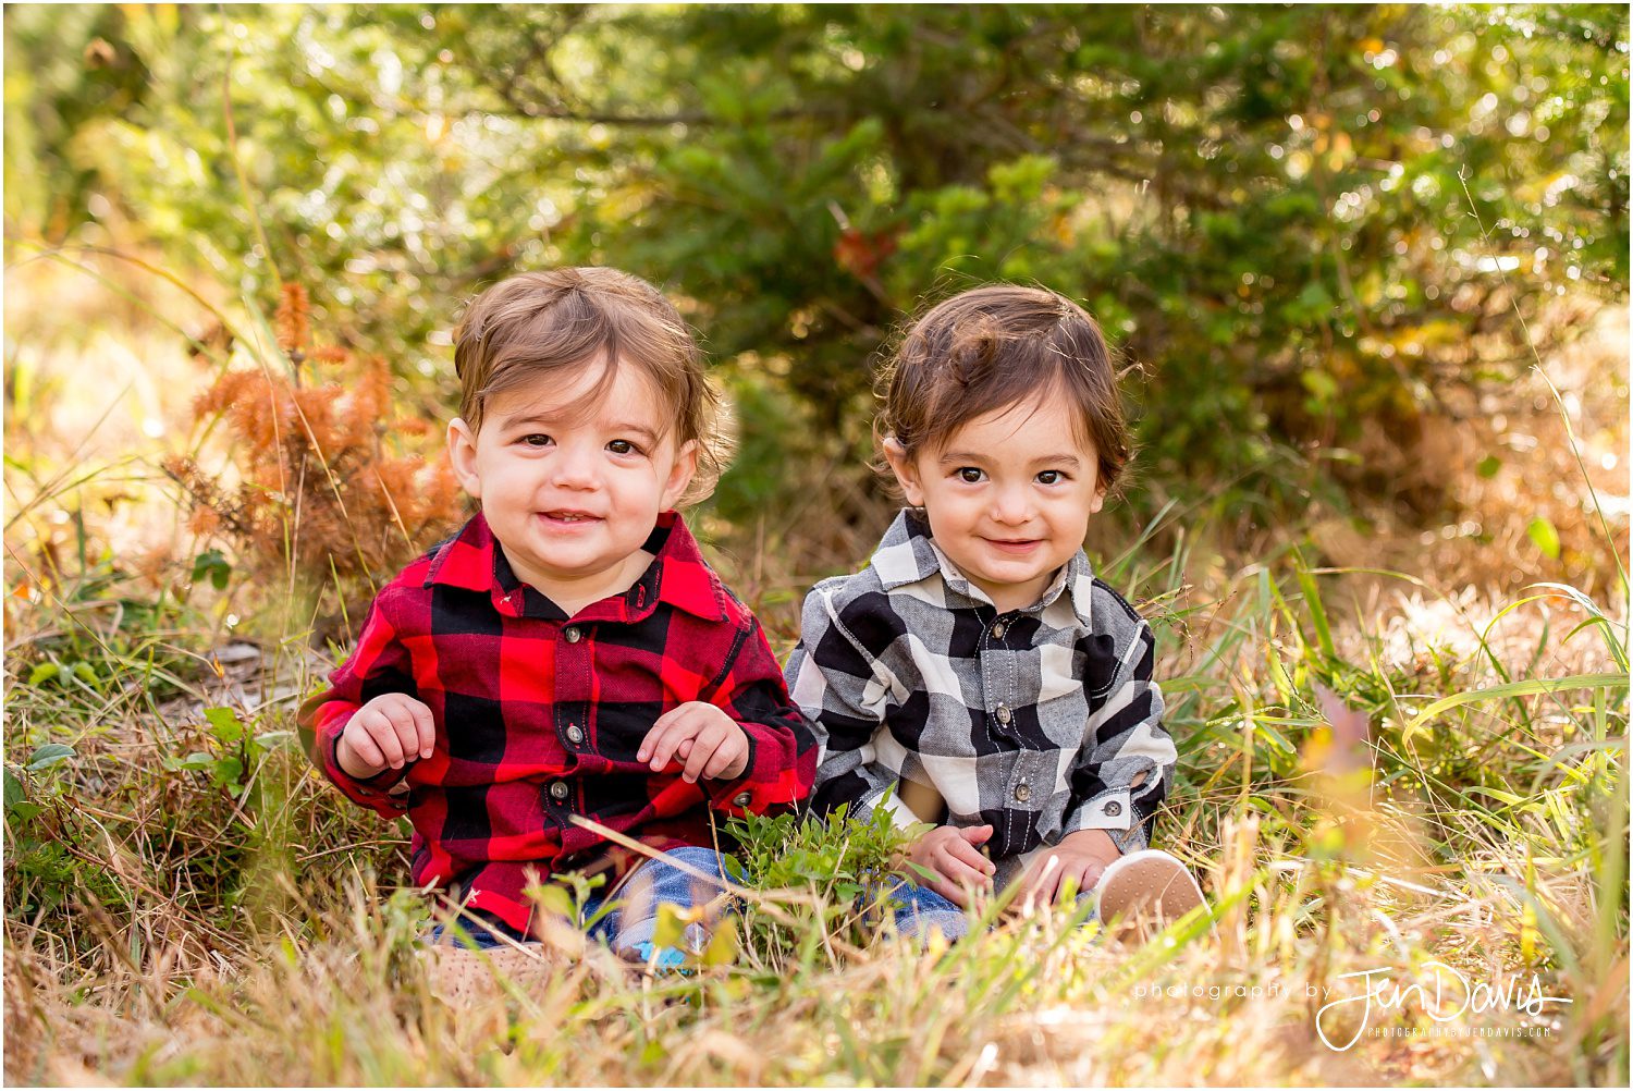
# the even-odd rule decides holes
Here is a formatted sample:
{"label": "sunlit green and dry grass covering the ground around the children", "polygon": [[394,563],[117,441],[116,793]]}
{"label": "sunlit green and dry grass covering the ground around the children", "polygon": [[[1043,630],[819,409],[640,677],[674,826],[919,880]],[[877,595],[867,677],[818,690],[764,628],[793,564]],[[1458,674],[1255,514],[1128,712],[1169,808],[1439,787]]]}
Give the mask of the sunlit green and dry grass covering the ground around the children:
{"label": "sunlit green and dry grass covering the ground around the children", "polygon": [[[405,828],[296,750],[292,702],[327,668],[291,608],[310,596],[201,565],[201,542],[132,563],[127,510],[178,524],[157,462],[75,472],[52,428],[8,443],[8,1083],[1626,1083],[1620,539],[1556,514],[1591,578],[1506,593],[1473,586],[1483,559],[1399,565],[1411,542],[1336,563],[1319,513],[1243,554],[1228,498],[1106,550],[1159,630],[1181,748],[1156,843],[1202,877],[1217,936],[1122,947],[1043,915],[918,951],[852,908],[877,831],[768,822],[740,853],[735,957],[648,978],[550,949],[544,983],[457,1004],[415,954]],[[764,528],[722,547],[785,650],[820,573],[781,567]],[[1484,1009],[1382,1004],[1434,964]],[[1365,972],[1385,986],[1365,1027],[1323,1014]],[[1560,1000],[1524,1009],[1533,982]]]}

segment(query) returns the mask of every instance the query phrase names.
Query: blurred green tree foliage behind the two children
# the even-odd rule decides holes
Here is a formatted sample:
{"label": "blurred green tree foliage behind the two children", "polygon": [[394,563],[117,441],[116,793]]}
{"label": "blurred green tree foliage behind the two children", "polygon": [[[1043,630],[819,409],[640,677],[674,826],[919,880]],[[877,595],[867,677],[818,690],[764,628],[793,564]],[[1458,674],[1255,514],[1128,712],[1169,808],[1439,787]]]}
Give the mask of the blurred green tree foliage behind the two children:
{"label": "blurred green tree foliage behind the two children", "polygon": [[[5,26],[13,240],[124,219],[265,301],[297,279],[428,405],[462,299],[607,263],[683,301],[750,451],[859,452],[903,315],[1040,281],[1146,369],[1150,480],[1257,475],[1293,503],[1277,451],[1409,436],[1447,387],[1528,363],[1478,336],[1515,304],[1626,292],[1613,5],[11,5]],[[774,472],[740,467],[722,511]]]}

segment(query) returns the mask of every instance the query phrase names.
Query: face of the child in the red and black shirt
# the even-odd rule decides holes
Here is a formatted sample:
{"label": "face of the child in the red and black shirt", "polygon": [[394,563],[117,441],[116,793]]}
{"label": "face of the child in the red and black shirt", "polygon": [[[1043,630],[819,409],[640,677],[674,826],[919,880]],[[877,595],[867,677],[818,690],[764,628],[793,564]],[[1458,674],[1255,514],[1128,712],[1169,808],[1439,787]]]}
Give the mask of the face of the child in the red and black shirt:
{"label": "face of the child in the red and black shirt", "polygon": [[639,367],[621,366],[603,397],[576,405],[604,371],[506,390],[480,433],[464,420],[447,430],[454,470],[511,568],[568,614],[640,578],[642,544],[697,467],[696,441],[676,446],[676,415]]}

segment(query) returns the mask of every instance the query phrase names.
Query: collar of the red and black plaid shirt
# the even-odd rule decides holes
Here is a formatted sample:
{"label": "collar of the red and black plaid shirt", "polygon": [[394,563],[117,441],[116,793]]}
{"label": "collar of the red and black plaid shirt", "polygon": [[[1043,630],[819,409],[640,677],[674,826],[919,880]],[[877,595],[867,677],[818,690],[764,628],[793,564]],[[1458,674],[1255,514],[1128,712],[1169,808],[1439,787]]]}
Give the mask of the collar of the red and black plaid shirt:
{"label": "collar of the red and black plaid shirt", "polygon": [[[643,549],[653,555],[647,572],[627,591],[586,606],[580,616],[639,621],[658,603],[668,603],[704,621],[725,621],[723,588],[678,511],[658,514]],[[488,591],[500,603],[523,585],[478,511],[433,559],[425,586]]]}

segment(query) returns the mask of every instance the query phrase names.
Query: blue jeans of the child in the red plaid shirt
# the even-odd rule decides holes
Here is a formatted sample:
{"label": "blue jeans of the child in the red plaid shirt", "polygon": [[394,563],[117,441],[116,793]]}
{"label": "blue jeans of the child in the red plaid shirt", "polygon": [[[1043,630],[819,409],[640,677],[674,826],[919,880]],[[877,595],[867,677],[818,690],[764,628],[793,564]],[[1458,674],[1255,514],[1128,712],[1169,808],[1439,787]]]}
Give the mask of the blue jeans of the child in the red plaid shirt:
{"label": "blue jeans of the child in the red plaid shirt", "polygon": [[[712,882],[704,882],[674,867],[668,862],[671,859],[712,875]],[[616,897],[591,897],[581,906],[583,918],[580,923],[599,913],[601,906],[611,898],[612,908],[606,916],[591,924],[586,934],[591,939],[606,939],[612,951],[621,955],[645,960],[652,955],[652,941],[658,933],[658,906],[673,905],[679,910],[691,910],[707,905],[720,897],[723,890],[722,884],[727,879],[725,871],[725,861],[714,849],[697,846],[670,849],[658,859],[650,859],[632,871],[624,885],[616,892]],[[461,918],[459,928],[470,937],[469,946],[478,951],[506,946],[505,939],[537,942],[490,913],[478,910],[474,916],[478,920],[470,920],[469,915]],[[431,929],[431,944],[436,944],[443,937],[444,928],[438,924]],[[454,936],[457,937],[459,933],[454,933]],[[699,954],[709,942],[709,929],[702,923],[687,924],[683,941],[691,954]],[[684,954],[663,949],[658,952],[658,960],[665,965],[678,965],[684,960]]]}

